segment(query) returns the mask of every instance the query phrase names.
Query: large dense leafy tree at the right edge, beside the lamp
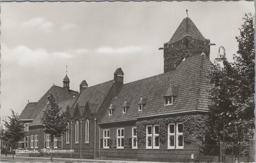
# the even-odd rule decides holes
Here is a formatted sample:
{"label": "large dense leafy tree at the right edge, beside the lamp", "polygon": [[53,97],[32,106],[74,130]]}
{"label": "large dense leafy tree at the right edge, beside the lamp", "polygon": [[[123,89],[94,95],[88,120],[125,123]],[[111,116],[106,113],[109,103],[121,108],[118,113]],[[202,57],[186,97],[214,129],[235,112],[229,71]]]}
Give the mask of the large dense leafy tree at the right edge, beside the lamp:
{"label": "large dense leafy tree at the right edge, beside the lamp", "polygon": [[[223,60],[224,67],[214,66],[211,83],[212,103],[209,115],[207,143],[228,142],[241,146],[253,138],[254,126],[254,25],[252,14],[245,14],[237,36],[238,48],[234,62]],[[235,153],[236,157],[239,151]]]}

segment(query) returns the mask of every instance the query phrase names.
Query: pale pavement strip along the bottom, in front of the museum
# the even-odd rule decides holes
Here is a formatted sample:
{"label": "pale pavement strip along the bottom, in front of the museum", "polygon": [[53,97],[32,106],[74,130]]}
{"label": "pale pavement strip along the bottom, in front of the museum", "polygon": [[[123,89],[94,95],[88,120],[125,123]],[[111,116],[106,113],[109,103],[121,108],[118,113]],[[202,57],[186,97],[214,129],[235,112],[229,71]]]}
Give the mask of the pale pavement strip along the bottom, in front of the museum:
{"label": "pale pavement strip along the bottom, in front of the museum", "polygon": [[[66,159],[66,158],[53,158],[53,162],[58,163],[148,163],[145,161],[136,161],[136,160],[99,160],[99,159]],[[14,160],[12,159],[12,155],[0,155],[0,162],[12,162],[12,163],[41,163],[41,162],[51,162],[51,158],[49,157],[21,157],[14,156]],[[52,162],[51,162],[52,163]],[[156,162],[150,162],[156,163]],[[163,162],[161,162],[163,163]]]}

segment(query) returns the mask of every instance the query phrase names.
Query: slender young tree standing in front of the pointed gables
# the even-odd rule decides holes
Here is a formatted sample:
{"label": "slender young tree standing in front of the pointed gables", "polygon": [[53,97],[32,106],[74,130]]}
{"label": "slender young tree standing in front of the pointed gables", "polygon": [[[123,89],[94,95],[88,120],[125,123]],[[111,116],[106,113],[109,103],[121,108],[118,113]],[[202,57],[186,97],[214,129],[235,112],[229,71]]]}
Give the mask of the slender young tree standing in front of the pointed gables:
{"label": "slender young tree standing in front of the pointed gables", "polygon": [[[65,113],[60,113],[61,108],[55,101],[53,94],[48,96],[49,104],[44,111],[44,117],[42,118],[42,124],[44,125],[45,134],[50,134],[51,151],[54,142],[54,136],[60,137],[67,131],[67,123]],[[52,161],[52,152],[51,152]]]}

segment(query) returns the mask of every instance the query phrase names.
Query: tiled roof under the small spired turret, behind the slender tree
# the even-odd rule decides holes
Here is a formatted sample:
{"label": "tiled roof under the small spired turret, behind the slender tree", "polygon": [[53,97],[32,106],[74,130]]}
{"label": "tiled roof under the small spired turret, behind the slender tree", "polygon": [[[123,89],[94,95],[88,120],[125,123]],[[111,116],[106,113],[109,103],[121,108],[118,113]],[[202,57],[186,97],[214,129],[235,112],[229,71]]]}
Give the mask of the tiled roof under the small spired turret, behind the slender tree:
{"label": "tiled roof under the small spired turret, behind the slender tree", "polygon": [[31,125],[38,124],[40,122],[39,114],[41,114],[41,117],[42,117],[43,111],[47,106],[47,102],[48,102],[47,97],[49,96],[50,93],[54,95],[57,103],[60,103],[61,101],[67,101],[69,99],[74,99],[75,97],[79,96],[79,93],[74,90],[67,91],[63,87],[53,85],[49,90],[47,90],[44,96],[41,97],[41,99],[37,102],[34,110],[31,111],[31,115],[32,115],[31,117],[34,119]]}

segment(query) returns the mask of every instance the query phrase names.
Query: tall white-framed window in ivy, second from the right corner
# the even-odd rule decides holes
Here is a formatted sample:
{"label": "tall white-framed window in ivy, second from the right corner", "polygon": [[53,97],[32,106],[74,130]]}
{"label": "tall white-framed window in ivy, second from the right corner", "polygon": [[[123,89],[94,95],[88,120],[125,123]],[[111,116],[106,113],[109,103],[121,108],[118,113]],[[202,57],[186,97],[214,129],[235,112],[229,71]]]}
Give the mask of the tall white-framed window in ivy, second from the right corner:
{"label": "tall white-framed window in ivy, second from the right corner", "polygon": [[147,149],[159,149],[159,125],[147,125]]}

